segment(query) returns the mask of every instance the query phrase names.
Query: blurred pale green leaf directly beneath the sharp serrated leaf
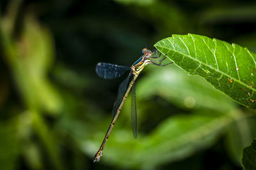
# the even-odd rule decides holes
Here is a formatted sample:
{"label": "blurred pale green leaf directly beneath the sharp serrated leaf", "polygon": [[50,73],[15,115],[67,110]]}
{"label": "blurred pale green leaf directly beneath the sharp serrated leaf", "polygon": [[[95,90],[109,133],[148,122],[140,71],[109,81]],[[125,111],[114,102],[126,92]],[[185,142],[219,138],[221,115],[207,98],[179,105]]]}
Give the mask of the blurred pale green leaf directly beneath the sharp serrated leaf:
{"label": "blurred pale green leaf directly beneath the sharp serrated leaf", "polygon": [[182,108],[209,108],[223,112],[236,107],[234,101],[199,76],[188,76],[176,66],[149,68],[152,71],[138,81],[138,99],[158,95]]}

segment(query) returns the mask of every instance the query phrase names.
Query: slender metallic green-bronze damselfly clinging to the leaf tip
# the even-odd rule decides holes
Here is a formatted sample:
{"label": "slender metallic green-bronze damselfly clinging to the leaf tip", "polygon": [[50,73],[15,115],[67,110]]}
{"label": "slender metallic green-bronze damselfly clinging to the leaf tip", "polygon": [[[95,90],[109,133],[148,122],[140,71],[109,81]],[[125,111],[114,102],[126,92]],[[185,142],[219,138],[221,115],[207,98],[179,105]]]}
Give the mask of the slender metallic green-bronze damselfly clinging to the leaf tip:
{"label": "slender metallic green-bronze damselfly clinging to the leaf tip", "polygon": [[[135,81],[138,78],[140,72],[144,69],[147,64],[154,64],[157,66],[166,66],[168,64],[171,64],[172,62],[168,64],[161,64],[164,59],[166,59],[166,55],[164,55],[163,59],[161,60],[154,60],[159,59],[161,57],[161,54],[159,56],[156,55],[156,57],[152,57],[152,52],[148,50],[147,48],[143,48],[142,50],[143,55],[140,57],[140,59],[136,60],[134,64],[132,64],[131,67],[128,66],[118,66],[115,64],[109,64],[106,62],[99,62],[96,66],[96,73],[104,79],[114,79],[122,76],[126,71],[131,70],[129,73],[129,76],[122,81],[122,83],[118,87],[118,95],[115,101],[115,104],[113,106],[113,119],[111,121],[111,124],[109,125],[108,131],[105,135],[105,138],[99,148],[99,151],[96,153],[93,162],[99,162],[100,158],[102,157],[102,151],[106,144],[106,141],[109,138],[109,134],[112,130],[112,128],[115,125],[116,118],[118,117],[120,111],[122,110],[122,107],[124,105],[125,99],[127,98],[130,90],[132,90],[132,108],[131,108],[131,118],[132,118],[132,132],[134,135],[134,138],[137,137],[137,112],[136,112],[136,90],[135,90]],[[154,60],[154,61],[153,61]],[[159,63],[157,63],[159,62]],[[130,83],[129,83],[130,82]]]}

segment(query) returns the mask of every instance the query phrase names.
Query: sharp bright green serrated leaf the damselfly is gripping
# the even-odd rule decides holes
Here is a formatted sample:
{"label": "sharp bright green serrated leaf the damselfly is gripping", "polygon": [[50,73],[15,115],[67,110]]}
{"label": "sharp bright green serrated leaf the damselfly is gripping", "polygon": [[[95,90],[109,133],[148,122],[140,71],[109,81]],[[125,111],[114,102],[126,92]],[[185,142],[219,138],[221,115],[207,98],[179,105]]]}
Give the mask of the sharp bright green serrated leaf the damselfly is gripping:
{"label": "sharp bright green serrated leaf the damselfly is gripping", "polygon": [[247,48],[195,34],[173,35],[156,48],[192,75],[200,75],[244,106],[256,110],[256,54]]}

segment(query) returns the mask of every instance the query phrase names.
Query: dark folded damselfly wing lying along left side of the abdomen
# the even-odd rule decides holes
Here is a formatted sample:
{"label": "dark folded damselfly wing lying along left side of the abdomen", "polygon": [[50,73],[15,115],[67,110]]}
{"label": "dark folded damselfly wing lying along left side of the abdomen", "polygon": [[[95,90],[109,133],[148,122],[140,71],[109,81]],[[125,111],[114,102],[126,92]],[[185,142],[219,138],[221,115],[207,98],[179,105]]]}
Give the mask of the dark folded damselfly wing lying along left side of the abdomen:
{"label": "dark folded damselfly wing lying along left side of the abdomen", "polygon": [[127,90],[127,86],[129,84],[129,80],[131,79],[131,75],[132,75],[132,73],[130,73],[129,76],[127,78],[125,78],[125,80],[122,81],[122,83],[120,83],[120,85],[118,87],[116,101],[113,106],[113,117],[115,117],[116,111],[118,110],[120,104],[122,103],[123,97]]}

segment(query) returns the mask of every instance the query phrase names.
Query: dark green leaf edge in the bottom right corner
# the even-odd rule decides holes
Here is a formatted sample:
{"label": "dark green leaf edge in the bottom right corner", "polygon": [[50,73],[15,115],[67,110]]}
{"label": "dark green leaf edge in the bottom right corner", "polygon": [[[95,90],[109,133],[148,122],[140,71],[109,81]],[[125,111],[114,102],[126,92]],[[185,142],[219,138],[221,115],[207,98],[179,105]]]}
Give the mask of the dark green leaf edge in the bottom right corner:
{"label": "dark green leaf edge in the bottom right corner", "polygon": [[246,170],[256,169],[256,141],[253,139],[253,142],[250,146],[247,146],[243,150],[242,165]]}

